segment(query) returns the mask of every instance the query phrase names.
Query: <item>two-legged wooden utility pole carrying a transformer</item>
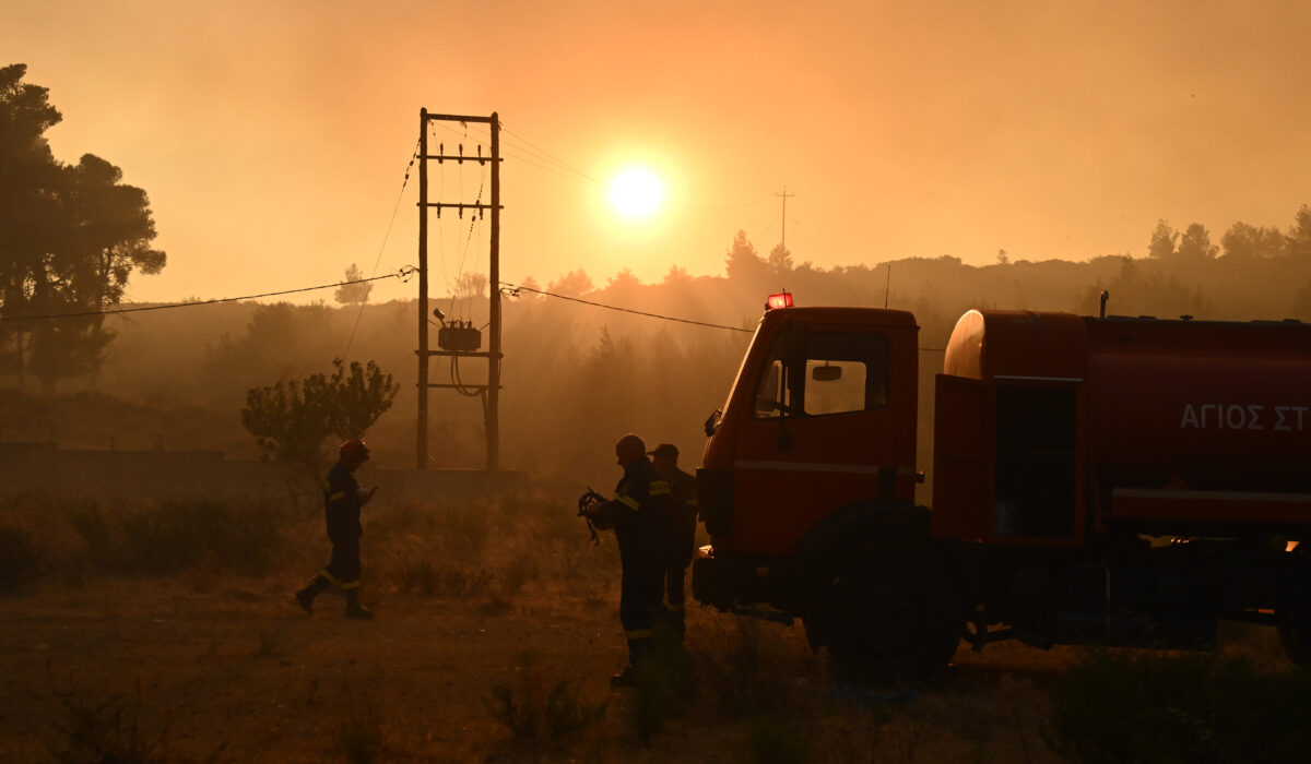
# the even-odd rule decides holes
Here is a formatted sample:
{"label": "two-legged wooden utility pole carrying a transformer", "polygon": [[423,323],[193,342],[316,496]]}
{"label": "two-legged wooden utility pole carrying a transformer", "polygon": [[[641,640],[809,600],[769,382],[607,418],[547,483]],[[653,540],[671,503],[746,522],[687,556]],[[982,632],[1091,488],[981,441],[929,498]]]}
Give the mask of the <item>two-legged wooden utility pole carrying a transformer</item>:
{"label": "two-legged wooden utility pole carrying a transformer", "polygon": [[[499,435],[499,402],[501,402],[501,121],[497,113],[493,111],[490,117],[467,117],[458,114],[429,114],[427,109],[420,109],[420,164],[418,164],[418,423],[416,427],[416,467],[417,469],[427,469],[427,391],[430,388],[455,388],[460,391],[475,389],[480,393],[482,398],[482,422],[486,431],[486,469],[488,472],[496,472],[501,467],[501,435]],[[439,144],[438,153],[429,153],[427,145],[427,126],[431,122],[460,122],[463,124],[468,123],[481,123],[486,124],[492,132],[492,155],[482,156],[482,151],[477,152],[476,156],[464,155],[464,145],[460,145],[458,155],[446,153],[444,145]],[[438,164],[444,161],[458,161],[460,164],[465,161],[476,161],[480,165],[484,162],[492,162],[492,202],[488,204],[481,203],[481,201],[475,201],[472,204],[463,202],[429,202],[427,201],[427,162],[429,160],[437,160]],[[492,292],[489,295],[490,305],[490,337],[488,338],[488,351],[477,353],[469,347],[459,346],[456,337],[452,335],[452,345],[442,345],[442,350],[429,350],[429,333],[427,322],[431,320],[429,317],[427,305],[427,211],[429,208],[437,208],[437,216],[442,216],[443,208],[459,210],[460,216],[464,216],[464,211],[469,210],[471,215],[482,216],[484,212],[490,212],[492,215],[492,233],[490,233],[490,263],[489,263],[489,280],[492,282],[489,287]],[[476,333],[476,329],[469,326],[456,328],[458,332],[464,332],[464,337],[468,333]],[[443,329],[443,334],[446,330]],[[481,342],[481,333],[479,333],[479,342]],[[476,347],[476,345],[475,345]],[[460,356],[460,358],[486,358],[488,359],[488,384],[485,385],[467,385],[467,384],[431,384],[427,381],[427,366],[429,359],[433,356]],[[454,360],[452,360],[454,362]]]}

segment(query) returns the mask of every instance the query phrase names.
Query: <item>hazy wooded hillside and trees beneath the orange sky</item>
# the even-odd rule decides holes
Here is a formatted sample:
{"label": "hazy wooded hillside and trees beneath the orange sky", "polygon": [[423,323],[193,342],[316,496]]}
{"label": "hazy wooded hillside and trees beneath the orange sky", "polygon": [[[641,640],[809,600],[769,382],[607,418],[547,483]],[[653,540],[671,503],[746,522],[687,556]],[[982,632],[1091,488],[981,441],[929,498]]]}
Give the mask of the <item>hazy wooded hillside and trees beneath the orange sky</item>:
{"label": "hazy wooded hillside and trees beneath the orange sky", "polygon": [[[164,253],[149,248],[155,231],[148,199],[123,185],[118,168],[104,160],[54,160],[43,134],[59,113],[43,88],[22,83],[24,73],[21,64],[0,69],[0,317],[111,308],[132,274],[157,273],[165,263]],[[877,242],[865,246],[856,253],[865,265],[822,267],[781,244],[760,254],[747,232],[738,231],[724,249],[683,259],[721,261],[720,275],[694,277],[674,263],[658,283],[642,283],[627,270],[604,283],[582,270],[545,287],[526,278],[522,286],[528,288],[505,300],[502,463],[562,478],[608,476],[615,438],[637,431],[653,443],[675,443],[695,464],[700,425],[722,404],[766,295],[780,288],[792,291],[797,304],[912,311],[922,326],[926,406],[932,373],[941,367],[940,350],[970,308],[1095,315],[1105,290],[1116,315],[1311,321],[1307,204],[1283,229],[1240,221],[1218,241],[1201,223],[1176,229],[1162,220],[1145,231],[1141,250],[1084,262],[1017,259],[999,250],[995,262],[974,266],[949,254],[889,258]],[[417,305],[372,304],[368,284],[345,283],[358,277],[358,267],[347,269],[332,295],[341,307],[222,304],[136,313],[131,322],[113,315],[0,321],[0,388],[21,391],[30,377],[49,396],[62,380],[68,392],[98,391],[155,409],[187,406],[186,419],[207,426],[189,431],[181,446],[239,457],[290,457],[287,435],[279,439],[267,422],[260,423],[267,419],[270,401],[291,401],[295,383],[305,405],[304,381],[315,380],[309,405],[320,406],[324,391],[343,389],[362,373],[366,387],[372,385],[370,394],[400,385],[399,394],[384,396],[385,405],[378,398],[371,406],[380,418],[370,438],[379,463],[409,467]],[[452,294],[434,299],[423,315],[442,307],[447,320],[482,326],[489,287],[481,274],[461,274]],[[541,292],[726,329],[606,311]],[[333,359],[341,360],[334,366]],[[482,381],[485,375],[476,359],[433,364],[434,381]],[[243,425],[243,410],[249,411],[246,426],[264,429],[262,444]],[[430,410],[433,464],[480,467],[480,401],[434,391]],[[43,435],[39,426],[33,429]],[[922,440],[927,434],[922,429]],[[64,442],[77,444],[77,438]],[[87,446],[104,444],[88,438]]]}

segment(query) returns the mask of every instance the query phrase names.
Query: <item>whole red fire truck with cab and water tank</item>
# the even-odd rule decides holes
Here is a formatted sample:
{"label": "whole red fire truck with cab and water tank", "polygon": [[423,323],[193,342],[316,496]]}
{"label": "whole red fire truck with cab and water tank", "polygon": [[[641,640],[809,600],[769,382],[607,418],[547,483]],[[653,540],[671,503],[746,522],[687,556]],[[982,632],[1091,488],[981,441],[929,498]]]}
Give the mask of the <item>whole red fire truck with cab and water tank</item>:
{"label": "whole red fire truck with cab and water tank", "polygon": [[[772,309],[771,309],[772,308]],[[705,423],[694,595],[800,619],[856,676],[964,640],[1188,649],[1221,620],[1311,658],[1311,325],[970,311],[933,391],[919,326],[767,303]]]}

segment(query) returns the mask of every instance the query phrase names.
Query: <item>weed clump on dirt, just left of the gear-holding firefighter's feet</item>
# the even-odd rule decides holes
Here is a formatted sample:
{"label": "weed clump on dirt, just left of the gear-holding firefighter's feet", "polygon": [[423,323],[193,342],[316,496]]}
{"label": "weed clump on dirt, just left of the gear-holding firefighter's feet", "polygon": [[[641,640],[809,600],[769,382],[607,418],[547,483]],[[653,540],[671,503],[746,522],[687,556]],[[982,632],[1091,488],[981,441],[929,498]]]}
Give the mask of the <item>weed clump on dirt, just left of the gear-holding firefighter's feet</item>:
{"label": "weed clump on dirt, just left of the gear-holding firefighter's feet", "polygon": [[482,701],[517,744],[562,751],[606,714],[604,702],[581,700],[568,679],[547,679],[532,658],[522,659],[517,672],[517,683],[493,687]]}

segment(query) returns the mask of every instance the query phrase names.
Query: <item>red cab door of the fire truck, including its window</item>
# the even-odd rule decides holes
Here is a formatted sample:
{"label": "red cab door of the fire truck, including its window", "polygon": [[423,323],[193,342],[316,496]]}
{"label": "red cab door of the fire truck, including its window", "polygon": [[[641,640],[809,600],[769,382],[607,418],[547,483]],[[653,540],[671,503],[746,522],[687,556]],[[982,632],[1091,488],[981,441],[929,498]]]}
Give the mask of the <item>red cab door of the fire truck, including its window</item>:
{"label": "red cab door of the fire truck, including its window", "polygon": [[734,511],[751,519],[733,523],[734,548],[788,553],[836,508],[912,494],[914,431],[909,455],[897,435],[915,391],[897,384],[893,341],[868,326],[775,338],[737,439]]}

